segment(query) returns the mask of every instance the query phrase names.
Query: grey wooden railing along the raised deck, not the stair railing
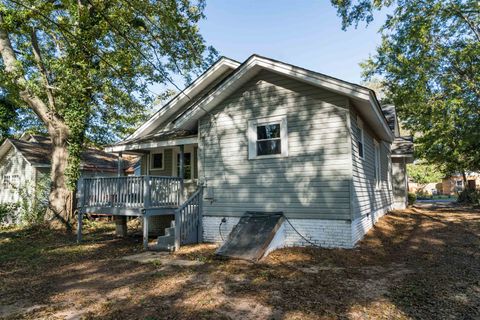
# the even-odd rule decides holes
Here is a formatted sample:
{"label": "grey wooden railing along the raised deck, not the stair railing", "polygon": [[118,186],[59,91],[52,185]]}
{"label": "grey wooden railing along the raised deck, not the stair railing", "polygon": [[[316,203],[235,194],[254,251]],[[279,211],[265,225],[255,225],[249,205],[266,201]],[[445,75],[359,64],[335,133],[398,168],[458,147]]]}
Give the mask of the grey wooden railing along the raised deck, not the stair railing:
{"label": "grey wooden railing along the raised deck, not the stair railing", "polygon": [[178,207],[183,180],[161,176],[84,178],[82,189],[85,207]]}

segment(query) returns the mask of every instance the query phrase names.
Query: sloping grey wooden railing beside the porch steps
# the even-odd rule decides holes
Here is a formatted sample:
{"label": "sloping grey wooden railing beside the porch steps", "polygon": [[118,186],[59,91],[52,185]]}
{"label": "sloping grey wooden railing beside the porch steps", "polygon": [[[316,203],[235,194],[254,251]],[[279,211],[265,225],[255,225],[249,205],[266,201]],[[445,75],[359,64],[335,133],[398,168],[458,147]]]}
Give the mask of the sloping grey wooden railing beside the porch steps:
{"label": "sloping grey wooden railing beside the porch steps", "polygon": [[202,237],[202,200],[203,187],[175,210],[175,250],[180,245],[199,243]]}

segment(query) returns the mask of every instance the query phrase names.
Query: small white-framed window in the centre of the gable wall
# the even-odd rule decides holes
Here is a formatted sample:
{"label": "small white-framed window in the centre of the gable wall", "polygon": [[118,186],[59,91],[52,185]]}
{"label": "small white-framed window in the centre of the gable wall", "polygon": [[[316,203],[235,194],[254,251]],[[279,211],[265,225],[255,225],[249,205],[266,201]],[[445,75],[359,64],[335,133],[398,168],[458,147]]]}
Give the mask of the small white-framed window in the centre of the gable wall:
{"label": "small white-framed window in the centre of the gable wall", "polygon": [[248,158],[288,156],[286,116],[248,122]]}

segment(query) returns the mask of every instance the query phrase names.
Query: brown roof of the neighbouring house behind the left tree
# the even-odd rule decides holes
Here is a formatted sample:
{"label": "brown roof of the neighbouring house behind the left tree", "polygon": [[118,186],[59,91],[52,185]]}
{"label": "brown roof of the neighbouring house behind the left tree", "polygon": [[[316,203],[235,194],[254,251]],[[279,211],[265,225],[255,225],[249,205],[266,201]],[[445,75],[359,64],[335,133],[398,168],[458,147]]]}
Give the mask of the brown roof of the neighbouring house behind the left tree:
{"label": "brown roof of the neighbouring house behind the left tree", "polygon": [[[28,140],[6,139],[0,146],[0,158],[11,149],[17,150],[23,158],[34,167],[49,167],[51,165],[50,139],[31,135]],[[123,159],[123,169],[132,166],[136,159]],[[88,148],[82,152],[81,169],[85,171],[117,171],[118,157],[99,149]]]}

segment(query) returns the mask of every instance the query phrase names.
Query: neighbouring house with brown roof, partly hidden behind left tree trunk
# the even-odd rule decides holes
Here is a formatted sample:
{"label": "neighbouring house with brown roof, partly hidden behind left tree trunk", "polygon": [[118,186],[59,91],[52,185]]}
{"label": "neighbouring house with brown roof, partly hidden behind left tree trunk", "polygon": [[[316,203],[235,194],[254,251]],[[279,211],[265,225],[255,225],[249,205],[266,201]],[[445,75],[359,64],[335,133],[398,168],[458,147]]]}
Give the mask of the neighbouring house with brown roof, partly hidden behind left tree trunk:
{"label": "neighbouring house with brown roof, partly hidden behind left tree trunk", "polygon": [[[23,198],[46,199],[50,177],[49,138],[23,135],[6,139],[0,146],[0,204],[16,204]],[[98,149],[83,152],[82,176],[116,176],[118,156]],[[128,160],[122,164],[122,175],[133,174]],[[131,171],[131,172],[130,172]],[[42,193],[38,195],[37,193]],[[43,200],[43,199],[41,199]],[[14,222],[14,221],[9,221]]]}

